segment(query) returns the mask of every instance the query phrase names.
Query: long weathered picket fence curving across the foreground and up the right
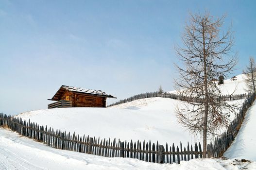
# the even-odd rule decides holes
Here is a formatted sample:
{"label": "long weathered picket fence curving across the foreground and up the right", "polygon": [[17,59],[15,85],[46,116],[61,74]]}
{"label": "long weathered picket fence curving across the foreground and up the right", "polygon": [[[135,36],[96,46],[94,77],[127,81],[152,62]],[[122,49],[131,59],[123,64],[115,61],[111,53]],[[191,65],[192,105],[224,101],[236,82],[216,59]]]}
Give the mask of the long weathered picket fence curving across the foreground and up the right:
{"label": "long weathered picket fence curving across the foreground and up the right", "polygon": [[[230,123],[227,131],[222,136],[215,138],[213,144],[207,146],[208,157],[222,156],[224,151],[230,146],[235,136],[238,134],[239,127],[244,119],[247,109],[255,100],[255,94],[251,95],[244,101],[236,118]],[[202,158],[202,148],[200,142],[183,145],[181,142],[179,146],[160,145],[158,142],[151,143],[137,140],[120,141],[114,138],[101,139],[100,137],[80,136],[71,134],[66,131],[54,130],[47,126],[40,126],[35,122],[22,120],[14,116],[0,114],[0,126],[11,129],[22,136],[32,138],[38,142],[42,142],[47,146],[75,151],[79,153],[89,153],[105,157],[130,157],[137,158],[146,162],[155,163],[180,163],[182,160],[190,160],[194,158]]]}

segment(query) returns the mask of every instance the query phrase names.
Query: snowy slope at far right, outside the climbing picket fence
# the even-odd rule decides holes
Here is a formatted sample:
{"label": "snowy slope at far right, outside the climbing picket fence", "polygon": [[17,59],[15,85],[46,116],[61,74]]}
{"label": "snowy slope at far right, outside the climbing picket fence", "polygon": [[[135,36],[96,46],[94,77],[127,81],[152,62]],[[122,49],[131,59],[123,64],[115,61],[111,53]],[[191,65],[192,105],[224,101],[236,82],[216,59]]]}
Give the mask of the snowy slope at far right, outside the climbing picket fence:
{"label": "snowy slope at far right, outside the climbing picket fence", "polygon": [[256,102],[247,111],[238,135],[224,156],[256,161]]}

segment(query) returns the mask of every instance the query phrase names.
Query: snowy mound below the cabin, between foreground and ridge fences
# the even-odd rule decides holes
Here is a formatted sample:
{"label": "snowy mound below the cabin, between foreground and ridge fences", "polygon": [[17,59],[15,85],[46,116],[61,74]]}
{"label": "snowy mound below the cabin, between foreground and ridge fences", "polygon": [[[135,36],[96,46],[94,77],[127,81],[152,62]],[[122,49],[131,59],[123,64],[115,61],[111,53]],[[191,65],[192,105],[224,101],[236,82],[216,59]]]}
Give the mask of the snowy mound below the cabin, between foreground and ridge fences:
{"label": "snowy mound below the cabin, between foreground and ridge fences", "polygon": [[[230,101],[240,105],[244,100]],[[194,145],[202,141],[185,131],[175,117],[175,107],[183,102],[168,98],[148,98],[123,103],[111,108],[57,108],[36,110],[18,116],[80,135],[116,137],[121,141],[158,142]]]}

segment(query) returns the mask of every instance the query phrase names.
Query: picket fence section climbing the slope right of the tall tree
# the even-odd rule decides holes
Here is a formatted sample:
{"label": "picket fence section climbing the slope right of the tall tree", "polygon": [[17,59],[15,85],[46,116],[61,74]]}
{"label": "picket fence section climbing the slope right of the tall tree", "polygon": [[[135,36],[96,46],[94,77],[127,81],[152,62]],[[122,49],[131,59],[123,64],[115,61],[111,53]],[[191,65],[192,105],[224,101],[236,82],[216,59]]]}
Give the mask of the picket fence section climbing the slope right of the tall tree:
{"label": "picket fence section climbing the slope right of the tall tree", "polygon": [[230,122],[227,130],[221,136],[217,136],[213,143],[207,146],[208,154],[212,156],[222,156],[222,154],[229,148],[239,132],[248,108],[255,101],[255,98],[256,94],[253,93],[243,102],[239,113],[237,113],[235,119]]}

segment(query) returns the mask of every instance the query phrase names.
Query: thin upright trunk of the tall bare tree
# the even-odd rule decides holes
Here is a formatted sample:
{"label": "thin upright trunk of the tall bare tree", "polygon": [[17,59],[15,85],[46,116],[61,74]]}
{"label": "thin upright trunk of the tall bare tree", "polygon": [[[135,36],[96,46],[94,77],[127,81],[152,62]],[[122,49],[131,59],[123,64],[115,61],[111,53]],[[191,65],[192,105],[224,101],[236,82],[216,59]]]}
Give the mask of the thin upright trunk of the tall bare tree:
{"label": "thin upright trunk of the tall bare tree", "polygon": [[205,52],[205,26],[204,19],[202,21],[203,27],[203,52],[204,52],[204,86],[205,86],[205,115],[204,115],[204,129],[203,129],[203,158],[206,158],[206,148],[207,148],[207,119],[208,119],[208,82],[207,82],[207,69],[206,69],[206,57]]}

